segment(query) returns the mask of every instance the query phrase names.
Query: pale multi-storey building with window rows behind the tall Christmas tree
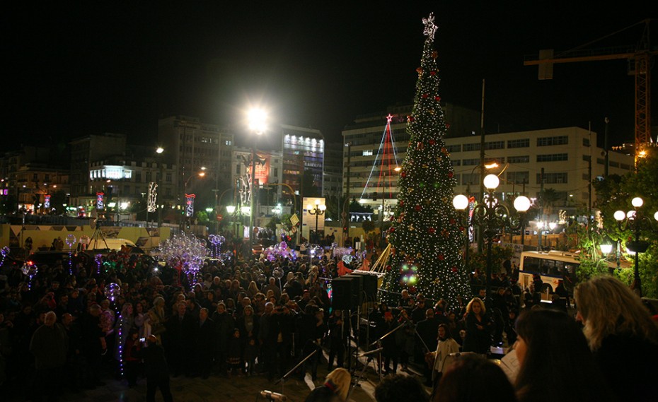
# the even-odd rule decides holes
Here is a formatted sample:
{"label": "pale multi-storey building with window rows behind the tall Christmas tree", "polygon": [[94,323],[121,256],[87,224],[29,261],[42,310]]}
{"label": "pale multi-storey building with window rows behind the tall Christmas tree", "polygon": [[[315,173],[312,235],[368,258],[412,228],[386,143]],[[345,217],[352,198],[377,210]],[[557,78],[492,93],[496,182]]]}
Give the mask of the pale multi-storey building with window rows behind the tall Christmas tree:
{"label": "pale multi-storey building with window rows behind the tall Christmas tree", "polygon": [[[460,116],[463,112],[456,107],[446,107],[447,121],[451,121],[450,110],[459,111],[456,114]],[[406,133],[405,112],[393,114],[391,122],[398,165],[402,165],[410,139]],[[444,138],[458,183],[455,193],[470,194],[478,199],[480,136],[476,133],[479,122],[475,113],[467,113],[470,118],[457,115],[452,118],[460,122],[458,127],[451,125]],[[377,158],[385,127],[386,119],[379,114],[361,117],[342,132],[347,145],[343,154],[343,191],[375,209],[381,208],[382,200],[394,205],[398,193],[396,174],[382,168],[381,158]],[[485,165],[497,162],[498,167],[491,172],[500,174],[498,191],[503,199],[521,193],[537,198],[543,182],[543,188],[552,189],[556,206],[587,206],[590,200],[596,199],[589,183],[603,177],[604,155],[604,150],[596,146],[596,133],[578,127],[485,136],[484,162]],[[624,175],[633,169],[633,157],[623,152],[611,151],[608,160],[610,175]],[[383,175],[385,180],[379,180],[379,186],[373,185],[369,182],[373,175]],[[366,183],[369,184],[366,186]]]}

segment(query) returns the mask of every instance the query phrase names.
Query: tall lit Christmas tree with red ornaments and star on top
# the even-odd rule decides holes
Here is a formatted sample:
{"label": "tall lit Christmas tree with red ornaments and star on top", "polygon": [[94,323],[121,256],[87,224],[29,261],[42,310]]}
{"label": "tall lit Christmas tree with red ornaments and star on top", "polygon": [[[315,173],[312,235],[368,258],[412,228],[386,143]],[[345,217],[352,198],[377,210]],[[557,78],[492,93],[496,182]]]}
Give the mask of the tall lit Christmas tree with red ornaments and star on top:
{"label": "tall lit Christmas tree with red ornaments and star on top", "polygon": [[[423,18],[425,46],[412,114],[408,116],[410,136],[407,155],[398,180],[398,206],[388,232],[391,244],[383,289],[422,293],[434,300],[456,305],[467,297],[468,273],[461,258],[464,242],[452,199],[456,179],[446,150],[446,122],[439,102],[439,69],[433,49],[434,16]],[[398,296],[383,292],[383,299]]]}

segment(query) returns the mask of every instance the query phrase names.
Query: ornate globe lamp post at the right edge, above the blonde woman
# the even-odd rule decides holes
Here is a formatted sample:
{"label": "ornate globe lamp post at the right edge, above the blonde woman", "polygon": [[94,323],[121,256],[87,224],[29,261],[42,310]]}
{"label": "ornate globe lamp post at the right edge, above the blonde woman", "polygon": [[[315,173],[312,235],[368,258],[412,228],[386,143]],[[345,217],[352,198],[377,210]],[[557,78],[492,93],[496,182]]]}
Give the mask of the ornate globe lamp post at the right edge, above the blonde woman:
{"label": "ornate globe lamp post at the right edge, above the blonde woman", "polygon": [[[620,230],[629,230],[633,232],[633,240],[626,242],[626,248],[629,252],[635,254],[635,268],[633,270],[633,288],[637,289],[640,297],[642,297],[642,281],[640,280],[639,271],[639,254],[647,252],[649,242],[640,240],[640,233],[644,229],[650,229],[652,222],[647,215],[642,213],[640,209],[645,201],[640,197],[635,197],[630,201],[633,205],[633,210],[624,212],[616,211],[614,214],[615,220]],[[654,220],[658,221],[658,211],[654,213]]]}

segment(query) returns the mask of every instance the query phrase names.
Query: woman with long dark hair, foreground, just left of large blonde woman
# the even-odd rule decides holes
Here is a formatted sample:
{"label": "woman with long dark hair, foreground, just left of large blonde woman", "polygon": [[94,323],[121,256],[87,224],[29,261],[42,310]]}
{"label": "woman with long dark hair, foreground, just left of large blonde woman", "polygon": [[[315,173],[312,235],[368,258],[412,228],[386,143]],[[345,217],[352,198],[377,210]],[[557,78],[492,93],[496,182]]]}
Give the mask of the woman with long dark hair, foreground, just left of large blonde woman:
{"label": "woman with long dark hair, foreground, just left of large blonde woman", "polygon": [[516,321],[516,357],[520,402],[613,401],[596,367],[587,340],[567,314],[533,309]]}

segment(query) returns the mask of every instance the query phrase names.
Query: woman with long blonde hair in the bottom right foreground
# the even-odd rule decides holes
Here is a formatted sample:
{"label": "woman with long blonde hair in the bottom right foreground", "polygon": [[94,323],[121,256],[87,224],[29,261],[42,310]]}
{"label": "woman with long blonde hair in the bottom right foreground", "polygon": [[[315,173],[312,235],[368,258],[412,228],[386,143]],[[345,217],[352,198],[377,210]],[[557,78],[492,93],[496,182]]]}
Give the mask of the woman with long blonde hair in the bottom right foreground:
{"label": "woman with long blonde hair in the bottom right foreground", "polygon": [[612,276],[577,285],[577,319],[594,359],[622,401],[655,401],[658,324],[642,300]]}

